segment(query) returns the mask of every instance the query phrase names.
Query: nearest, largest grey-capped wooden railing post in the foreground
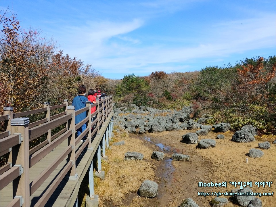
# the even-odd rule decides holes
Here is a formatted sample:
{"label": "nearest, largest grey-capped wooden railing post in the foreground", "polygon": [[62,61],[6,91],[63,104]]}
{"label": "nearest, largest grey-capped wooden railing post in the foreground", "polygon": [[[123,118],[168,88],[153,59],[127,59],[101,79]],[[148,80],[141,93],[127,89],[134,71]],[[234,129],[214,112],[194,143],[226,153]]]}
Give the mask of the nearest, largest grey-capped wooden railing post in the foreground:
{"label": "nearest, largest grey-capped wooden railing post in the foreground", "polygon": [[22,196],[23,207],[30,206],[30,178],[29,178],[29,118],[15,118],[11,120],[11,134],[20,134],[21,144],[12,147],[12,166],[21,165],[23,173],[12,182],[13,198]]}

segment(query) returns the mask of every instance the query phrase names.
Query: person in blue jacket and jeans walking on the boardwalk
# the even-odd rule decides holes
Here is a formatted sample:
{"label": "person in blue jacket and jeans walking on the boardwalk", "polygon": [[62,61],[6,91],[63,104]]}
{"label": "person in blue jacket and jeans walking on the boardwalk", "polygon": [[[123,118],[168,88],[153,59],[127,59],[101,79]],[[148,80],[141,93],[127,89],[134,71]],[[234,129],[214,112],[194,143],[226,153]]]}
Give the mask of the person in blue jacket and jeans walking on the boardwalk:
{"label": "person in blue jacket and jeans walking on the boardwalk", "polygon": [[[74,97],[73,102],[72,102],[72,106],[75,106],[75,111],[86,107],[86,101],[88,101],[87,97],[85,97],[85,93],[86,93],[85,87],[80,87],[78,89],[78,93],[79,93],[79,95]],[[78,124],[85,118],[86,118],[86,112],[78,114],[75,117],[75,124]],[[86,129],[86,123],[83,124],[79,129],[77,129],[77,135],[79,136],[83,131],[85,131],[85,129]],[[84,141],[84,140],[85,140],[85,137],[82,139],[82,141]]]}

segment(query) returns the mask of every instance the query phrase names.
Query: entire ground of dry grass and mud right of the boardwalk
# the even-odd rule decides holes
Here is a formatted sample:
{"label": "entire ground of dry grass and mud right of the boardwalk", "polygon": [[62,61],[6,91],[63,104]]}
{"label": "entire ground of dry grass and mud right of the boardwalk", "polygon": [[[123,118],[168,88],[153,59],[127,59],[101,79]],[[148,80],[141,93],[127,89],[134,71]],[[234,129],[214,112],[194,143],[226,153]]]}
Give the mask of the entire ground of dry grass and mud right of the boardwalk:
{"label": "entire ground of dry grass and mud right of the boardwalk", "polygon": [[[194,130],[195,131],[195,130]],[[269,150],[262,150],[262,158],[249,158],[247,153],[251,148],[257,148],[258,142],[275,140],[272,136],[255,137],[256,141],[250,143],[235,143],[231,141],[232,132],[222,133],[225,139],[215,139],[217,133],[200,136],[199,139],[215,139],[216,147],[198,149],[196,145],[182,143],[182,135],[194,132],[192,130],[150,133],[142,136],[115,133],[114,141],[125,141],[125,145],[112,146],[107,150],[108,160],[103,161],[102,167],[106,171],[105,180],[95,178],[95,194],[99,195],[99,206],[145,207],[169,206],[177,207],[185,198],[192,198],[200,207],[210,206],[209,202],[215,196],[198,196],[199,192],[228,192],[239,188],[229,184],[230,181],[252,181],[253,192],[276,193],[276,145],[271,144]],[[150,142],[144,138],[150,138]],[[149,140],[149,139],[148,139]],[[159,150],[158,143],[162,143],[167,150],[165,160],[171,154],[180,152],[188,154],[188,162],[171,161],[173,173],[166,175],[167,167],[164,160],[154,161],[150,158],[153,151]],[[160,145],[159,145],[160,146]],[[141,161],[124,161],[124,153],[140,152],[144,155]],[[248,158],[248,163],[246,163]],[[141,183],[150,179],[158,183],[158,196],[156,198],[141,198],[137,194]],[[198,182],[221,183],[226,181],[227,187],[198,187]],[[258,181],[272,181],[271,187],[258,187]],[[220,196],[229,198],[229,196]],[[276,206],[274,196],[259,197],[264,207]],[[237,207],[229,202],[225,207]]]}

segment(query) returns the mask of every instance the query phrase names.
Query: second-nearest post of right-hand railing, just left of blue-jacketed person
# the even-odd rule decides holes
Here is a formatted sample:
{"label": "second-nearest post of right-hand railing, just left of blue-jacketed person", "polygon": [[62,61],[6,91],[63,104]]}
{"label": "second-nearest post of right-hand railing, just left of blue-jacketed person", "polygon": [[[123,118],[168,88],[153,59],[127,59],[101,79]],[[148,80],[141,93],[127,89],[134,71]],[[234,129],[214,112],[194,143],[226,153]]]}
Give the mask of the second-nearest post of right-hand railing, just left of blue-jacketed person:
{"label": "second-nearest post of right-hand railing, just left of blue-jacketed person", "polygon": [[68,154],[68,159],[73,161],[69,179],[75,180],[78,177],[76,173],[76,137],[75,137],[75,106],[67,107],[67,114],[72,114],[72,118],[68,120],[67,129],[72,130],[72,135],[68,137],[68,146],[72,145],[73,150]]}

